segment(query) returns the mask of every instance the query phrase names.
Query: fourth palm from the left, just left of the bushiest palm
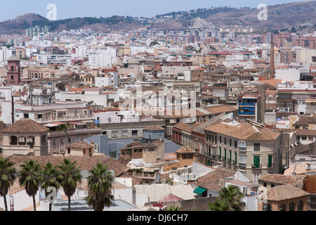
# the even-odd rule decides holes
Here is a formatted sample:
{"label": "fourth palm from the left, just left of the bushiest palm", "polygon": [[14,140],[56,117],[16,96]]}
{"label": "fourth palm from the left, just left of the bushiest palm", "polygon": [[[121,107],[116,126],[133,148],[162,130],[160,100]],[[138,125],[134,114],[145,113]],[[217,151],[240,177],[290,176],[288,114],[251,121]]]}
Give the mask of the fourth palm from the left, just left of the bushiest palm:
{"label": "fourth palm from the left, just left of the bushiest palm", "polygon": [[71,162],[67,158],[59,168],[61,170],[60,175],[63,177],[61,186],[68,197],[68,211],[70,211],[70,197],[76,192],[77,182],[81,183],[82,176],[80,169],[76,167],[76,162]]}

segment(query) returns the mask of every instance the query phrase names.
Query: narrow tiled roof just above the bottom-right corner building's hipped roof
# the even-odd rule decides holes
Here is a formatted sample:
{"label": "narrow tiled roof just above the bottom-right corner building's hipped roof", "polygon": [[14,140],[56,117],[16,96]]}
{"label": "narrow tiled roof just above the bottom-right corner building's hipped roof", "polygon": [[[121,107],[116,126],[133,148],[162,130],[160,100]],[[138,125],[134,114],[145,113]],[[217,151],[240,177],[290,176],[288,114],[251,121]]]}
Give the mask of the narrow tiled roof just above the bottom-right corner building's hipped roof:
{"label": "narrow tiled roof just above the bottom-right corner building's hipped roof", "polygon": [[298,188],[303,188],[304,175],[284,175],[284,174],[265,174],[259,182],[269,182],[274,184],[292,184]]}

